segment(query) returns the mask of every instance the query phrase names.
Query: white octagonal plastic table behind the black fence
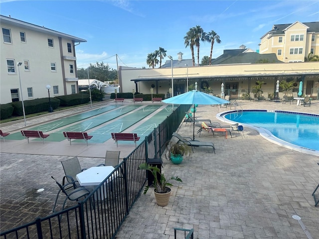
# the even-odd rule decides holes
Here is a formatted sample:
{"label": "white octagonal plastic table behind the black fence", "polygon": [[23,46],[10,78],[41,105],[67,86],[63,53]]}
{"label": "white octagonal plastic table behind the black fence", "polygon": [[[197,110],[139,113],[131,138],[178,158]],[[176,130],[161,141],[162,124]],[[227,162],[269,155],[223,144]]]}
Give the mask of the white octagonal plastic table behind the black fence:
{"label": "white octagonal plastic table behind the black fence", "polygon": [[[76,175],[76,179],[79,181],[81,186],[98,186],[100,183],[104,181],[106,177],[108,177],[114,170],[113,166],[100,166],[100,167],[91,167],[89,169],[84,170],[81,173]],[[114,177],[116,177],[115,175]],[[114,177],[111,177],[114,178]],[[108,183],[109,180],[106,181]],[[103,190],[103,189],[101,189]],[[102,191],[103,192],[103,191]],[[104,200],[106,198],[106,185],[104,184]],[[101,200],[100,195],[94,195],[94,199]]]}

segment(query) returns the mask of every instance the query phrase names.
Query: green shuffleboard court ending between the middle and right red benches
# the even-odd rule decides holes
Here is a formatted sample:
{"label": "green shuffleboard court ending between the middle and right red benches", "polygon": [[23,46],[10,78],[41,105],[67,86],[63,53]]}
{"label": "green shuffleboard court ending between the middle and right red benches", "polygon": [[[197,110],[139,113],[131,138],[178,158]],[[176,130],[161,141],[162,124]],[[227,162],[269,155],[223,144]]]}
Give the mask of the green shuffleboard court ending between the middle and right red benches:
{"label": "green shuffleboard court ending between the middle and right red benches", "polygon": [[125,116],[104,127],[94,130],[90,133],[90,135],[93,135],[93,137],[90,139],[90,142],[104,143],[105,141],[109,140],[112,137],[111,133],[124,131],[128,127],[132,126],[133,124],[144,119],[145,117],[152,114],[156,110],[160,109],[160,107],[161,107],[160,105],[146,106],[143,109],[133,112],[132,114],[128,116]]}

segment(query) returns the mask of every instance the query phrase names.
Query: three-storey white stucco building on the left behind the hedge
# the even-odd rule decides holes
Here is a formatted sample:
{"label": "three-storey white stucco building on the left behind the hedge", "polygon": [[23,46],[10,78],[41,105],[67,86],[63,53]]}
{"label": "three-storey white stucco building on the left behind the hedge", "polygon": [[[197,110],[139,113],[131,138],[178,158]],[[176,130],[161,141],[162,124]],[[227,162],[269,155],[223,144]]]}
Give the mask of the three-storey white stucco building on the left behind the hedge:
{"label": "three-storey white stucco building on the left behind the hedge", "polygon": [[[75,46],[86,42],[0,15],[0,104],[78,93]],[[21,63],[21,64],[19,64]]]}

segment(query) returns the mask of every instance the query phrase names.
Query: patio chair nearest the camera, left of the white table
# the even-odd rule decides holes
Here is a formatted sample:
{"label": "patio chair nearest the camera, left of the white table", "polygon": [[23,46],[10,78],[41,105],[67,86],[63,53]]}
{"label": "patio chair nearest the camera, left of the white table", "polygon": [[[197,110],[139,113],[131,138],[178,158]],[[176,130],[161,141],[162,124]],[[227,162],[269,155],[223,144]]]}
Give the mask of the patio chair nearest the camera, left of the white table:
{"label": "patio chair nearest the camera, left of the white table", "polygon": [[[54,181],[56,182],[56,184],[60,188],[59,192],[56,195],[56,198],[55,198],[55,201],[54,201],[54,205],[53,205],[53,208],[52,208],[52,212],[53,213],[56,213],[55,207],[56,207],[56,203],[58,201],[58,197],[59,197],[60,192],[64,193],[65,196],[66,196],[66,198],[64,199],[61,211],[63,211],[65,203],[66,203],[67,200],[79,201],[80,198],[82,198],[82,197],[85,198],[86,196],[88,196],[90,194],[90,191],[88,189],[86,189],[85,187],[82,187],[82,186],[76,187],[73,190],[68,190],[68,189],[71,188],[70,186],[74,184],[73,182],[67,183],[67,184],[62,186],[53,176],[51,176],[51,178],[54,179]],[[60,215],[60,217],[62,217],[62,215]]]}

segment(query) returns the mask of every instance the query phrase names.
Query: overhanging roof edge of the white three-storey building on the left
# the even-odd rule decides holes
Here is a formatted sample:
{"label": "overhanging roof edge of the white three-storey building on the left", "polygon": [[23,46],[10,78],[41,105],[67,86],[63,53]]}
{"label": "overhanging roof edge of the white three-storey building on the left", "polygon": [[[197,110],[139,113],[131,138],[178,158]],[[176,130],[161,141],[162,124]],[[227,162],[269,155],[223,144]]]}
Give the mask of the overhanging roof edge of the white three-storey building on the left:
{"label": "overhanging roof edge of the white three-storey building on the left", "polygon": [[18,27],[23,27],[23,28],[26,28],[26,29],[30,29],[32,31],[37,31],[37,32],[45,33],[45,34],[54,35],[54,36],[57,36],[57,37],[67,38],[67,39],[73,40],[74,42],[86,42],[85,39],[82,39],[82,38],[79,38],[79,37],[76,37],[76,36],[71,36],[71,35],[68,35],[68,34],[65,34],[65,33],[62,33],[62,32],[51,30],[51,29],[46,28],[44,26],[38,26],[38,25],[35,25],[35,24],[32,24],[32,23],[28,23],[28,22],[25,22],[25,21],[21,21],[21,20],[18,20],[18,19],[15,19],[15,18],[11,18],[11,17],[7,17],[7,16],[3,16],[3,15],[0,15],[0,21],[1,21],[1,23],[6,23],[6,24],[18,26]]}

